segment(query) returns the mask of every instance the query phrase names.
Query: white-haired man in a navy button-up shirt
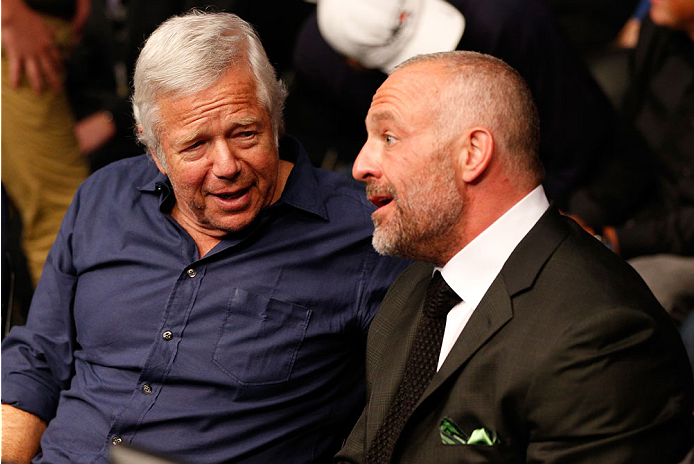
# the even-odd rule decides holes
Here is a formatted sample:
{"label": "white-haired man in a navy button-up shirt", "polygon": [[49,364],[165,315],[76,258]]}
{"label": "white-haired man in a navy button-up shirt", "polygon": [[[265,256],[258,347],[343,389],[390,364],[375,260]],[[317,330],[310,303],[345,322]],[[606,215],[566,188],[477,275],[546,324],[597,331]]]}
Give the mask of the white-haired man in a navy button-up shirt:
{"label": "white-haired man in a navy button-up shirt", "polygon": [[405,262],[372,249],[356,183],[282,136],[285,90],[237,16],[163,23],[134,87],[153,156],[76,194],[2,345],[2,460],[326,462]]}

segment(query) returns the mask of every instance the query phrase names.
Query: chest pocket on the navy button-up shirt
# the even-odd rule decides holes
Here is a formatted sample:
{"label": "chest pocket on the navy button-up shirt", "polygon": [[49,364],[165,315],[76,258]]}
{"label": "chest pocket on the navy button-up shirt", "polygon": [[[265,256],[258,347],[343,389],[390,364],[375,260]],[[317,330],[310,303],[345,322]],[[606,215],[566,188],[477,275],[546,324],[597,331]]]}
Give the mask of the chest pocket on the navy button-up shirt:
{"label": "chest pocket on the navy button-up shirt", "polygon": [[289,379],[311,310],[234,289],[213,362],[242,385]]}

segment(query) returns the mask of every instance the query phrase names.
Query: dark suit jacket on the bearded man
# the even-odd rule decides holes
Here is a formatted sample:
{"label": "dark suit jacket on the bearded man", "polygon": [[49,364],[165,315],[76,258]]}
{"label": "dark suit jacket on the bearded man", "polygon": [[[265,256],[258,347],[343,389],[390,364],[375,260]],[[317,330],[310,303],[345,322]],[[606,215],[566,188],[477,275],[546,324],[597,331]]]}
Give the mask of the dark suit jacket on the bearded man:
{"label": "dark suit jacket on the bearded man", "polygon": [[[408,268],[372,323],[368,404],[338,461],[363,461],[393,401],[431,273]],[[678,462],[692,445],[692,373],[668,318],[631,267],[550,209],[434,375],[393,462]],[[500,443],[442,444],[444,417]]]}

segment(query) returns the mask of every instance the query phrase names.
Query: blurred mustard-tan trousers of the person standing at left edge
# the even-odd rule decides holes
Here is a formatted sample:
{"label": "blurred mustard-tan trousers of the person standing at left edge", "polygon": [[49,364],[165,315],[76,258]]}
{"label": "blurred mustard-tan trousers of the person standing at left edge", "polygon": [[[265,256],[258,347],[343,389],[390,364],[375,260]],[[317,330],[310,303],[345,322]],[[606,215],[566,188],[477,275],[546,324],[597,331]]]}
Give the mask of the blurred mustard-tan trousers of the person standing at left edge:
{"label": "blurred mustard-tan trousers of the person standing at left edge", "polygon": [[[44,17],[67,54],[70,23]],[[75,138],[75,119],[64,91],[36,94],[26,78],[9,86],[2,51],[2,182],[22,219],[22,246],[34,285],[75,190],[89,174]]]}

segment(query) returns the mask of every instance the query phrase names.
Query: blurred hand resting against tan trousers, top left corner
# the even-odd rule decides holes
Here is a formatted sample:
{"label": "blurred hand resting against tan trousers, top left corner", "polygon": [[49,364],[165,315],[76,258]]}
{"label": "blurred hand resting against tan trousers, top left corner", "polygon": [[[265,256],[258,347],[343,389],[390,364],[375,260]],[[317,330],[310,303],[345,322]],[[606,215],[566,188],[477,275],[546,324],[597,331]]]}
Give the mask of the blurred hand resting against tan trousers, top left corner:
{"label": "blurred hand resting against tan trousers, top left corner", "polygon": [[63,63],[53,31],[22,0],[2,0],[2,46],[7,56],[10,87],[16,89],[26,74],[34,92],[48,84],[62,86]]}

